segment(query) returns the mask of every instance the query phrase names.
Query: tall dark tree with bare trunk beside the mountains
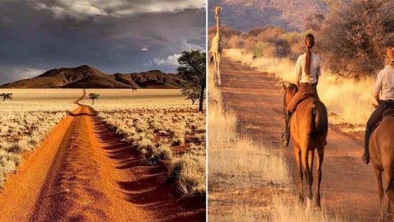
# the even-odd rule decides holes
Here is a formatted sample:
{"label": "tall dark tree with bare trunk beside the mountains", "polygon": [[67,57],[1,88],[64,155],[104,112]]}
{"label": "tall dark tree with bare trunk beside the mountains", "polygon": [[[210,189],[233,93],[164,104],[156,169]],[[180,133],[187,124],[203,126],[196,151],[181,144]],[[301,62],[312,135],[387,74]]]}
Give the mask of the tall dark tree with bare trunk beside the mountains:
{"label": "tall dark tree with bare trunk beside the mountains", "polygon": [[199,87],[198,111],[202,112],[206,87],[206,52],[201,49],[185,50],[177,59],[176,71],[190,84]]}

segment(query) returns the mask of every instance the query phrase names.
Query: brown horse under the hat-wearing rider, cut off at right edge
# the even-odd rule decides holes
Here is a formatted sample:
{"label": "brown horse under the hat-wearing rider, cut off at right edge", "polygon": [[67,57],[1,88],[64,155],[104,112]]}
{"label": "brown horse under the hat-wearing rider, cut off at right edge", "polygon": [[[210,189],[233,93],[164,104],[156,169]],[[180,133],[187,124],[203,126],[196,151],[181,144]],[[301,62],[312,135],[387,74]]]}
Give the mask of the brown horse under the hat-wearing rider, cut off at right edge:
{"label": "brown horse under the hat-wearing rider, cut off at right edge", "polygon": [[[375,108],[377,107],[374,105]],[[369,155],[373,164],[376,179],[378,180],[378,190],[380,199],[379,221],[384,221],[383,199],[384,192],[382,186],[382,172],[384,172],[386,183],[386,193],[388,194],[389,206],[387,217],[390,219],[394,204],[394,110],[387,110],[383,113],[382,121],[372,132],[369,139]]]}

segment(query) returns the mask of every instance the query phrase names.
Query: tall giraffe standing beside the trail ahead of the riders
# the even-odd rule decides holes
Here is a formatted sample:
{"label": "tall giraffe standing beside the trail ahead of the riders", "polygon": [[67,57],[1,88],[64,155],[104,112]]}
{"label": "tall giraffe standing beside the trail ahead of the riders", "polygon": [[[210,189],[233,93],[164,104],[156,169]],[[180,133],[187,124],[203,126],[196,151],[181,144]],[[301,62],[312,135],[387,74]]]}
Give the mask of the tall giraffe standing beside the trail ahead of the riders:
{"label": "tall giraffe standing beside the trail ahead of the riders", "polygon": [[220,5],[215,5],[213,10],[215,10],[215,18],[216,18],[216,35],[212,39],[212,44],[211,44],[212,57],[210,63],[212,63],[213,60],[215,66],[215,70],[214,70],[215,83],[217,86],[220,86],[222,84],[220,81],[220,57],[222,56],[222,51],[223,51],[223,39],[220,36],[219,12],[222,10],[222,7]]}

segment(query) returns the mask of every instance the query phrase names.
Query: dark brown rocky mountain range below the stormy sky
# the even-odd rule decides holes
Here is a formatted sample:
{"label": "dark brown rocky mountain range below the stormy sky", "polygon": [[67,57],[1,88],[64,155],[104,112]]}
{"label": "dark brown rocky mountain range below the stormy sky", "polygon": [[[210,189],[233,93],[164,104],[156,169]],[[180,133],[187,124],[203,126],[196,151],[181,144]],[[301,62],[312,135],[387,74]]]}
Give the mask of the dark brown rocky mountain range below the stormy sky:
{"label": "dark brown rocky mountain range below the stormy sky", "polygon": [[91,66],[49,70],[34,78],[0,85],[0,88],[181,88],[185,80],[159,70],[106,74]]}

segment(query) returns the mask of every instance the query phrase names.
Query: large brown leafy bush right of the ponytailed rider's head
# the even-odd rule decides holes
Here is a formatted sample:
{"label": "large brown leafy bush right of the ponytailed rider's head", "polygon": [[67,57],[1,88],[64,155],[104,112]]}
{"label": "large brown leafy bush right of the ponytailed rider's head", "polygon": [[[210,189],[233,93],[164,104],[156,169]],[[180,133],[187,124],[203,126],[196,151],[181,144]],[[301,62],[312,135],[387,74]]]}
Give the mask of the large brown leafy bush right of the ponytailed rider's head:
{"label": "large brown leafy bush right of the ponytailed rider's head", "polygon": [[318,33],[325,67],[345,77],[375,75],[382,69],[382,54],[394,44],[394,4],[352,0],[330,11]]}

